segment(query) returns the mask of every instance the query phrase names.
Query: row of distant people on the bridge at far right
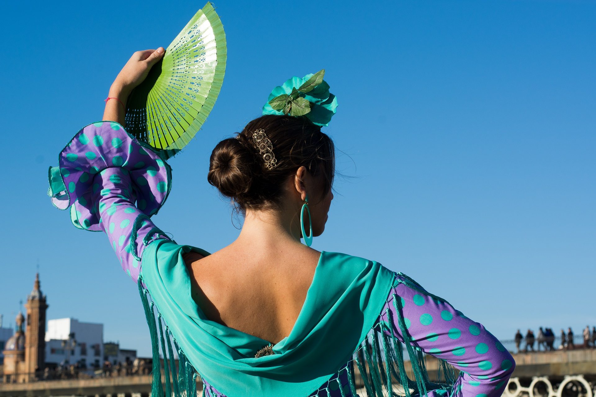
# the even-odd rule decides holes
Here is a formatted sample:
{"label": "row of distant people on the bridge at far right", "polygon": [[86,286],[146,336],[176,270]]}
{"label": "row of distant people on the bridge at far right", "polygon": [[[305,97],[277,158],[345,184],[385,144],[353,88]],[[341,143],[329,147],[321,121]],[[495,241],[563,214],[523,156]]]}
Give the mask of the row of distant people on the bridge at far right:
{"label": "row of distant people on the bridge at far right", "polygon": [[[583,344],[576,344],[574,342],[575,335],[573,335],[573,330],[571,327],[567,328],[567,332],[564,329],[561,329],[560,333],[560,341],[558,346],[555,348],[555,342],[557,338],[555,337],[554,332],[552,332],[551,328],[545,328],[538,330],[538,335],[534,335],[532,330],[527,330],[526,336],[523,336],[520,330],[517,330],[516,336],[514,338],[516,342],[517,352],[520,353],[524,352],[536,352],[541,351],[555,351],[555,350],[572,350],[572,349],[589,349],[589,348],[596,348],[596,327],[592,327],[590,331],[590,327],[586,326],[583,329]],[[522,349],[522,342],[525,342],[525,346]],[[534,348],[534,344],[536,343],[536,349]]]}

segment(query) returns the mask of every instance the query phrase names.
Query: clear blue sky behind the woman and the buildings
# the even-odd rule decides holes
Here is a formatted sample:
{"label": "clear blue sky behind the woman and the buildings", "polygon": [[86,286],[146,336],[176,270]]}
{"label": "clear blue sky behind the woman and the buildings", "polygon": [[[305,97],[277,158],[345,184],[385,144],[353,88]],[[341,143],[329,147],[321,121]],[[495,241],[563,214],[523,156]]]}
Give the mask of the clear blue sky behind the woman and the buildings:
{"label": "clear blue sky behind the woman and the buildings", "polygon": [[[105,324],[150,354],[135,283],[103,233],[50,204],[47,168],[132,52],[167,46],[200,2],[3,6],[0,313],[14,325],[39,261],[48,318]],[[155,217],[216,251],[238,234],[206,180],[215,144],[271,89],[321,68],[339,108],[338,168],[313,248],[403,271],[510,339],[518,327],[596,324],[596,3],[215,3],[228,40],[221,95],[170,164]],[[240,220],[236,220],[238,225]],[[256,242],[258,243],[258,242]]]}

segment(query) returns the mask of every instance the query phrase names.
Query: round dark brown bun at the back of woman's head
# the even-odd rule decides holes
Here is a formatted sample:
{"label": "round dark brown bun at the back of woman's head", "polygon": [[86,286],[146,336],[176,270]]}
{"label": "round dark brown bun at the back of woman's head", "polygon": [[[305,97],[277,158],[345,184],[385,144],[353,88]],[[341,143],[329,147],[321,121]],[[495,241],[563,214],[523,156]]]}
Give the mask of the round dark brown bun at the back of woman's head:
{"label": "round dark brown bun at the back of woman's head", "polygon": [[254,154],[239,139],[224,139],[211,153],[207,181],[223,195],[238,200],[250,190],[255,163]]}

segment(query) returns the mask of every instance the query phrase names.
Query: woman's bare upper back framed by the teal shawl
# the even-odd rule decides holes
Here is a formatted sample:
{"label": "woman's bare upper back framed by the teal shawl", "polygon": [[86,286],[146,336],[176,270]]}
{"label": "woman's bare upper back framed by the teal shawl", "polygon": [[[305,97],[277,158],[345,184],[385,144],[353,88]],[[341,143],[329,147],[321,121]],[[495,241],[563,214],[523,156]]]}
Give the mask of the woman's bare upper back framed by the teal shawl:
{"label": "woman's bare upper back framed by the teal shawl", "polygon": [[193,299],[207,318],[277,343],[290,335],[321,253],[302,244],[266,253],[229,245],[184,254]]}

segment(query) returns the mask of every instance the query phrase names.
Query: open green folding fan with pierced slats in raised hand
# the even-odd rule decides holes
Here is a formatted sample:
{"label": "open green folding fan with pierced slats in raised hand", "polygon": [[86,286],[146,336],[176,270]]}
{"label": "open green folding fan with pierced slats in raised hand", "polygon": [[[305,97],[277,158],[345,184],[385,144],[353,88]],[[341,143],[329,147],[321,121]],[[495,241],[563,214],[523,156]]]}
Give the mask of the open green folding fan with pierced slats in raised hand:
{"label": "open green folding fan with pierced slats in raised hand", "polygon": [[178,153],[201,128],[218,98],[226,54],[224,26],[208,2],[132,91],[126,131],[166,159]]}

